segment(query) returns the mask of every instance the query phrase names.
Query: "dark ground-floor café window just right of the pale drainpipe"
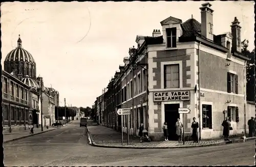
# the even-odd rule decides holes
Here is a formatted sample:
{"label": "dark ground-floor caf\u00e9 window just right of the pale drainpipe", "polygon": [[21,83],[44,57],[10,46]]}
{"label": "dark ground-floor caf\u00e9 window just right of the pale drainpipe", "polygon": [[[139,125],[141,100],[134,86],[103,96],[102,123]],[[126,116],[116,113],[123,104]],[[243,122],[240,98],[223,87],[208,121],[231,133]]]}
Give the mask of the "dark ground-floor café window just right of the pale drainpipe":
{"label": "dark ground-floor caf\u00e9 window just right of the pale drainpipe", "polygon": [[211,113],[211,105],[202,105],[203,110],[203,129],[212,129],[212,113]]}

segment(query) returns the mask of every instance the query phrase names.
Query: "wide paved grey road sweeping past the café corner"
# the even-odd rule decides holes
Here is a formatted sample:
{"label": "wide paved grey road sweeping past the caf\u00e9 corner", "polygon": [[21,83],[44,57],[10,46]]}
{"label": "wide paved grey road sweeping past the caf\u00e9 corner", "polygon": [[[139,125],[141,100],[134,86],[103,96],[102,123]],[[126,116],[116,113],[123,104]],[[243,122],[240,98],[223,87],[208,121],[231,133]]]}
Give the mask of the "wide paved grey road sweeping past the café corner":
{"label": "wide paved grey road sweeping past the caf\u00e9 corner", "polygon": [[111,149],[88,144],[86,129],[66,127],[4,144],[6,166],[254,165],[255,141],[187,149]]}

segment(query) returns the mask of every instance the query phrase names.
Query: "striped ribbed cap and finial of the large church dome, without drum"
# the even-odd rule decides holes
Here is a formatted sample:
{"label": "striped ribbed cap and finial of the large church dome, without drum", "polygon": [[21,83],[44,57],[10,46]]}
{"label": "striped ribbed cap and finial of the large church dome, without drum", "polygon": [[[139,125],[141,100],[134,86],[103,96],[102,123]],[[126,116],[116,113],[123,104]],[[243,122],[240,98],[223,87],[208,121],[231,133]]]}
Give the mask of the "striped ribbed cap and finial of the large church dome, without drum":
{"label": "striped ribbed cap and finial of the large church dome, without drum", "polygon": [[18,61],[18,62],[35,63],[35,60],[32,57],[32,55],[30,54],[30,52],[28,52],[27,50],[25,50],[22,47],[22,40],[20,39],[20,35],[19,35],[17,43],[18,43],[18,47],[16,47],[15,49],[13,49],[12,51],[10,51],[7,54],[5,61],[6,62]]}

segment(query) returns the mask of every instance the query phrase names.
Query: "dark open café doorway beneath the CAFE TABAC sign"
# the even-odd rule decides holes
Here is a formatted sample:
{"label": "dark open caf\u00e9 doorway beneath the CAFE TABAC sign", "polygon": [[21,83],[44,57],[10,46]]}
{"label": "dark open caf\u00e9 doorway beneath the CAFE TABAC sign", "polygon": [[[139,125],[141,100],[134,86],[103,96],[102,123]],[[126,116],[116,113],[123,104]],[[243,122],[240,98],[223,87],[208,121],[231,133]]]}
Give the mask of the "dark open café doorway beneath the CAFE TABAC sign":
{"label": "dark open caf\u00e9 doorway beneath the CAFE TABAC sign", "polygon": [[178,136],[176,135],[176,122],[177,119],[180,118],[179,107],[179,103],[164,104],[164,122],[167,123],[169,132],[168,140],[178,140]]}

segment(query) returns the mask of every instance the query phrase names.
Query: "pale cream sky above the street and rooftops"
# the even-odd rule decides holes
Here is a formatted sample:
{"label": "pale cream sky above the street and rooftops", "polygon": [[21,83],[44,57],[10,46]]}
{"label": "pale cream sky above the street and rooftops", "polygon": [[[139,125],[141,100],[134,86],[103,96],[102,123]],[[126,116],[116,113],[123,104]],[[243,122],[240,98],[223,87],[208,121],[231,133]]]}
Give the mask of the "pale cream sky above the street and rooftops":
{"label": "pale cream sky above the street and rooftops", "polygon": [[[11,2],[1,3],[2,60],[23,41],[36,61],[37,76],[56,89],[60,105],[92,106],[129,57],[137,35],[162,32],[160,21],[173,16],[201,22],[205,2]],[[237,17],[242,40],[254,49],[254,2],[214,1],[214,34],[231,31]]]}

